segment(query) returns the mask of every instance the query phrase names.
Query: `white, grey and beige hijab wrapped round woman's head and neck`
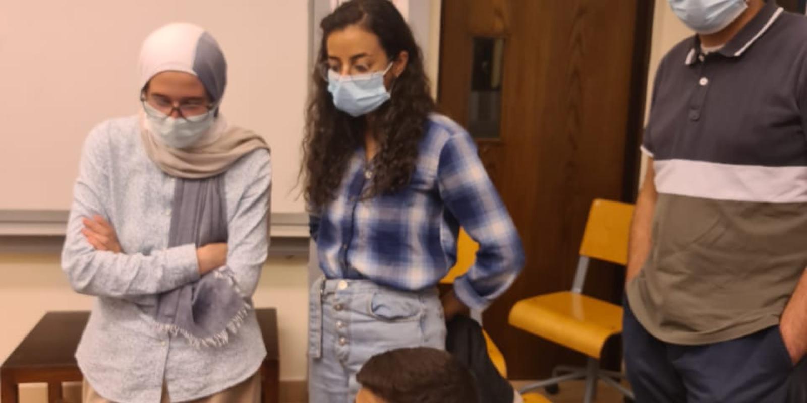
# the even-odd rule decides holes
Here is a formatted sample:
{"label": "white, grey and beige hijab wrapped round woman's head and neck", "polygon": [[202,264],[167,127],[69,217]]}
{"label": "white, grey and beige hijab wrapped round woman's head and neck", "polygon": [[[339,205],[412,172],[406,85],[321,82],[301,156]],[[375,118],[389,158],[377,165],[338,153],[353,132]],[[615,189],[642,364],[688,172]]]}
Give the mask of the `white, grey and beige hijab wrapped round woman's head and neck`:
{"label": "white, grey and beige hijab wrapped round woman's head and neck", "polygon": [[[190,23],[170,23],[154,31],[140,50],[140,87],[158,73],[182,71],[194,74],[220,103],[227,85],[227,61],[215,39],[203,28]],[[190,147],[166,144],[140,111],[140,134],[148,158],[174,177],[200,179],[226,171],[241,156],[259,148],[269,150],[266,140],[253,131],[230,126],[217,110],[215,123]]]}

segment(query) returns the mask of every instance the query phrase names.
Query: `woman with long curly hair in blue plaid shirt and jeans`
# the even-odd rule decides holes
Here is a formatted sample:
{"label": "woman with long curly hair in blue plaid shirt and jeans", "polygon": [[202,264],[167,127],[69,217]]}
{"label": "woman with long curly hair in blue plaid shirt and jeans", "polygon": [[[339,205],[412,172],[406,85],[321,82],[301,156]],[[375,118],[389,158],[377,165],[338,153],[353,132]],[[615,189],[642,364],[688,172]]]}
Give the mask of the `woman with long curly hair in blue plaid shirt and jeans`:
{"label": "woman with long curly hair in blue plaid shirt and jeans", "polygon": [[[417,47],[388,0],[322,20],[303,139],[305,196],[324,276],[312,288],[310,401],[352,402],[367,359],[445,348],[445,319],[483,309],[524,254],[470,135],[435,113]],[[460,226],[476,262],[442,298]]]}

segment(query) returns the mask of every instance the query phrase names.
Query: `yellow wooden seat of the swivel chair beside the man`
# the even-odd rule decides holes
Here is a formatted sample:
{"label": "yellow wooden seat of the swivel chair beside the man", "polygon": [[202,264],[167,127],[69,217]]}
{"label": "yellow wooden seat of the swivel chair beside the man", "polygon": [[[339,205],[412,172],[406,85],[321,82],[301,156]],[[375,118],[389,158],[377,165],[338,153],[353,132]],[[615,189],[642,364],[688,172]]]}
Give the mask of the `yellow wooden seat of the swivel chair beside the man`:
{"label": "yellow wooden seat of the swivel chair beside the man", "polygon": [[622,308],[562,291],[516,302],[509,322],[538,337],[600,359],[605,341],[622,332]]}

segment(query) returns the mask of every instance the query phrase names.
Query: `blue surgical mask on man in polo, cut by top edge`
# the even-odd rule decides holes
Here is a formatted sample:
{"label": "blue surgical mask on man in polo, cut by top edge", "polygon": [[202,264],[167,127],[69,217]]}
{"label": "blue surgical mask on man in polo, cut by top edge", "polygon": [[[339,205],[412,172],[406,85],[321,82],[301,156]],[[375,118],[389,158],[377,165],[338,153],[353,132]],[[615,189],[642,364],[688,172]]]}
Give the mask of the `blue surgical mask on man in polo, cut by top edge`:
{"label": "blue surgical mask on man in polo, cut by top edge", "polygon": [[747,0],[668,0],[678,18],[692,31],[707,35],[721,31],[748,8]]}

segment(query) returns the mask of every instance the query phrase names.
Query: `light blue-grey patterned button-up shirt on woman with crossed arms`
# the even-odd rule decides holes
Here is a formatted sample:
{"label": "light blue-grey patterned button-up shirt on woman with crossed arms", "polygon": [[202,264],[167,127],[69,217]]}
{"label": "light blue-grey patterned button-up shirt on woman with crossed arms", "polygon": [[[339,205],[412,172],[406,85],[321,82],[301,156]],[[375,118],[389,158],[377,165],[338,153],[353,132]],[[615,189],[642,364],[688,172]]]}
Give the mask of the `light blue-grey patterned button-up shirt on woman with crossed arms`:
{"label": "light blue-grey patterned button-up shirt on woman with crossed arms", "polygon": [[[199,278],[192,244],[168,248],[174,177],[148,159],[137,117],[101,123],[87,137],[67,226],[62,268],[79,293],[97,296],[76,357],[102,397],[120,403],[207,397],[252,376],[266,350],[254,312],[224,347],[191,347],[145,314],[157,294]],[[228,268],[251,297],[269,246],[271,165],[266,150],[242,157],[225,177]],[[115,226],[123,254],[95,251],[82,217]]]}

